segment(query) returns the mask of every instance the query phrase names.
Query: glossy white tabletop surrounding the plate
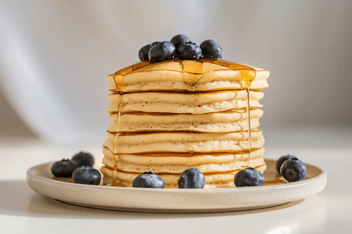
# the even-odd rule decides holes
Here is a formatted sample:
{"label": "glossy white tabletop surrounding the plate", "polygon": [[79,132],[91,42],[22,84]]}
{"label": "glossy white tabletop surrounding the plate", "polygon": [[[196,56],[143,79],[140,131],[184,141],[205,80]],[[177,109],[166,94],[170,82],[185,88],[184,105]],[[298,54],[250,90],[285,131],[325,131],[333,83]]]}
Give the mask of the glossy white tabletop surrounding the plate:
{"label": "glossy white tabletop surrounding the plate", "polygon": [[[351,230],[352,148],[272,149],[266,158],[295,154],[328,172],[318,195],[286,205],[214,214],[148,214],[68,205],[33,192],[27,168],[70,158],[81,148],[39,143],[0,144],[0,233],[340,233]],[[352,147],[350,145],[350,147]],[[101,156],[100,148],[85,148]],[[348,233],[341,232],[341,233]]]}

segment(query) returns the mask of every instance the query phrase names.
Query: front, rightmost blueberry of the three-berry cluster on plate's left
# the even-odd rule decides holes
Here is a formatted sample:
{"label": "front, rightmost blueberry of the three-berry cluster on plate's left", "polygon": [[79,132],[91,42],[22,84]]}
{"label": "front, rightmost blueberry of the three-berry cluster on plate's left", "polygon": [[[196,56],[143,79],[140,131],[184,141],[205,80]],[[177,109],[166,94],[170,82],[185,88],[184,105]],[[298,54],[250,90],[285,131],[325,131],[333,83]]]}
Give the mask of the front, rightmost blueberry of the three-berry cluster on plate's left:
{"label": "front, rightmost blueberry of the three-berry cluster on plate's left", "polygon": [[72,174],[73,182],[82,183],[84,185],[99,185],[101,180],[100,172],[93,166],[78,167]]}

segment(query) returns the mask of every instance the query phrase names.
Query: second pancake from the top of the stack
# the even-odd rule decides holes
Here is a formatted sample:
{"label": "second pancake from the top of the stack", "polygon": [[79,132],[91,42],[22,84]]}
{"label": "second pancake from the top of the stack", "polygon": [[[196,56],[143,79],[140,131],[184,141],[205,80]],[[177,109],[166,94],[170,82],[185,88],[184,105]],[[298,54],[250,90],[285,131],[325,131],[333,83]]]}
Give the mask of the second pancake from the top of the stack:
{"label": "second pancake from the top of the stack", "polygon": [[[250,108],[260,108],[259,100],[264,97],[262,92],[251,91]],[[119,95],[108,95],[112,103],[108,113],[118,111]],[[128,93],[121,97],[121,112],[163,112],[205,114],[211,112],[245,109],[247,107],[244,90],[211,91],[189,93],[175,92],[142,92]]]}

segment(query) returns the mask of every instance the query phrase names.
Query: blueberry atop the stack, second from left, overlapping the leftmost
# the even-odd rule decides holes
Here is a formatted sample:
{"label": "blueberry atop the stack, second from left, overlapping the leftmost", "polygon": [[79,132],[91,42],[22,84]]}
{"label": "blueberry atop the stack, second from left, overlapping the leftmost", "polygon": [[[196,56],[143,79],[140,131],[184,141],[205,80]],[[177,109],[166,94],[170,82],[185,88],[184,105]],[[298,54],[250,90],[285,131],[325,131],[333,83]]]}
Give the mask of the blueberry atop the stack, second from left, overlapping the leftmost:
{"label": "blueberry atop the stack, second from left, overlapping the leftmost", "polygon": [[170,41],[159,42],[148,53],[151,62],[162,62],[174,58],[175,46]]}

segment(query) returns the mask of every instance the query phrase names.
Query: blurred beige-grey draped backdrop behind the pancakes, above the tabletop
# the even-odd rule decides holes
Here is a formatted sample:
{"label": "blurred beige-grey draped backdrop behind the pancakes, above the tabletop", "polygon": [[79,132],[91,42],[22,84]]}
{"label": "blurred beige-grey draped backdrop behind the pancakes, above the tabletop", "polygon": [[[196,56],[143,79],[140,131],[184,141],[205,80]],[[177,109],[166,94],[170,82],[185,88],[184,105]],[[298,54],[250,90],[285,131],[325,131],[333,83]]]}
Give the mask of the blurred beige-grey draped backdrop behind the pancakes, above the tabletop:
{"label": "blurred beige-grey draped backdrop behind the pancakes, above the tabletop", "polygon": [[0,0],[1,138],[99,147],[106,75],[183,33],[271,72],[267,147],[350,145],[351,11],[350,0]]}

